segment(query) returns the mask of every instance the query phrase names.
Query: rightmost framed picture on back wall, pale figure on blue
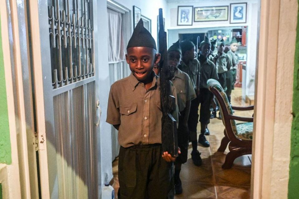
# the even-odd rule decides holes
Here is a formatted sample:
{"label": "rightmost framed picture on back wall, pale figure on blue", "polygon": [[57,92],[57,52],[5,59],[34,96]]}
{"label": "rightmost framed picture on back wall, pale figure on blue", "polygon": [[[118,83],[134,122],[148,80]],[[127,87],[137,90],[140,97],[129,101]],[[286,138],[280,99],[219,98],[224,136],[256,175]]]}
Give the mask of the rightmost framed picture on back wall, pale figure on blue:
{"label": "rightmost framed picture on back wall, pale figure on blue", "polygon": [[246,23],[247,3],[230,4],[229,23]]}

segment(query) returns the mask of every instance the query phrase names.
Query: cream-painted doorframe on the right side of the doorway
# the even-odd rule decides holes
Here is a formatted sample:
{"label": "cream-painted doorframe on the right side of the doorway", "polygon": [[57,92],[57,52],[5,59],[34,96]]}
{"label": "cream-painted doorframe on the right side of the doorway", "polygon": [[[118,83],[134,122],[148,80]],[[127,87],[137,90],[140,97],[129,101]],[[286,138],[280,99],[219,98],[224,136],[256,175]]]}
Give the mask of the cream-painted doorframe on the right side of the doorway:
{"label": "cream-painted doorframe on the right side of the doorway", "polygon": [[287,198],[297,0],[261,0],[251,198]]}

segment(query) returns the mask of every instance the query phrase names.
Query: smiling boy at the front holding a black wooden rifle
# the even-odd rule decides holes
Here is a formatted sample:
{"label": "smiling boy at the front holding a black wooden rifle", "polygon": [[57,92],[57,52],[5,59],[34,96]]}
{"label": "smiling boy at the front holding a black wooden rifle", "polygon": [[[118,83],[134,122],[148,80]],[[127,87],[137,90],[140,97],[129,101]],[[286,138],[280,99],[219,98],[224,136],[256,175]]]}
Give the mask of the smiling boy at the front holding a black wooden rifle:
{"label": "smiling boy at the front holding a black wooden rifle", "polygon": [[[174,197],[171,161],[175,158],[162,152],[160,79],[153,72],[160,56],[141,19],[127,46],[126,60],[132,73],[111,85],[107,109],[106,122],[118,130],[121,145],[121,199]],[[171,90],[176,97],[173,86]],[[178,121],[177,111],[172,115]]]}

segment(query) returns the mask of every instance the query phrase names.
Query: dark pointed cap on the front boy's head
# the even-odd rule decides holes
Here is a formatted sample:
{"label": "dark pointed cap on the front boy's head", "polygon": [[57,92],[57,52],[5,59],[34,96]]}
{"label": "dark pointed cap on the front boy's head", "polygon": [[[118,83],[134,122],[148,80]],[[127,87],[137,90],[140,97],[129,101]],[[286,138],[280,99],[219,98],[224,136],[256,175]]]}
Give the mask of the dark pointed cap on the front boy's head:
{"label": "dark pointed cap on the front boy's head", "polygon": [[150,47],[157,50],[156,42],[152,37],[151,33],[143,27],[142,19],[137,23],[131,39],[128,42],[127,48],[130,47]]}

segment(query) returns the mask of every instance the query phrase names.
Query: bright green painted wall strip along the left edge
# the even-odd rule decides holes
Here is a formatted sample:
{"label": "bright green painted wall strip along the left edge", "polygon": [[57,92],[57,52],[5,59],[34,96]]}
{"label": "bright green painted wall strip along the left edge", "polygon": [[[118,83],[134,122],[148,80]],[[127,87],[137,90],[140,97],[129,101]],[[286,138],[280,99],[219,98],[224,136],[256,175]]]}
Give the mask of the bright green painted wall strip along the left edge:
{"label": "bright green painted wall strip along the left edge", "polygon": [[0,23],[0,163],[11,164],[12,155],[8,126],[7,98],[1,38]]}

